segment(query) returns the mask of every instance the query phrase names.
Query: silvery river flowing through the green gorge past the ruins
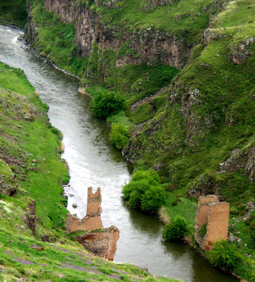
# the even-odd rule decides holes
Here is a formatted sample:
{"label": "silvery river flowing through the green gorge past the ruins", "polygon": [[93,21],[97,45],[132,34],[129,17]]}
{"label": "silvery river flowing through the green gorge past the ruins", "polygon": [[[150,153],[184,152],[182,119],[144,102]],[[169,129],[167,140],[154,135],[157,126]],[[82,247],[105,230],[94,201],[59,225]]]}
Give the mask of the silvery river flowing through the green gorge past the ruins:
{"label": "silvery river flowing through the green gorge past the ruins", "polygon": [[[17,40],[21,32],[0,25],[0,61],[21,68],[49,105],[50,122],[64,134],[63,158],[70,168],[68,210],[80,218],[86,215],[87,187],[101,187],[105,227],[120,230],[115,262],[127,262],[162,275],[193,282],[234,282],[233,276],[212,268],[183,243],[164,242],[157,218],[127,209],[121,199],[121,185],[133,170],[121,152],[109,144],[110,126],[95,119],[89,108],[90,98],[79,93],[79,80],[37,58]],[[72,203],[78,204],[77,209]]]}

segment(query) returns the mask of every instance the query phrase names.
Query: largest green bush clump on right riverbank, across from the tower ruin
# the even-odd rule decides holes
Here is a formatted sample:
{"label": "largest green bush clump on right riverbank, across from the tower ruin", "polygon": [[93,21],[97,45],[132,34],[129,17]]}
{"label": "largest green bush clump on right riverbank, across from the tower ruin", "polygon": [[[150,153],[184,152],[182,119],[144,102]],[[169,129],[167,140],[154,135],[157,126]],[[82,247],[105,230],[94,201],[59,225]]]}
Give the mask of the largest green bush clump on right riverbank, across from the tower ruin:
{"label": "largest green bush clump on right riverbank, across from the tower ruin", "polygon": [[122,188],[127,206],[145,213],[156,214],[166,201],[165,191],[159,184],[160,178],[155,170],[135,172],[130,183]]}

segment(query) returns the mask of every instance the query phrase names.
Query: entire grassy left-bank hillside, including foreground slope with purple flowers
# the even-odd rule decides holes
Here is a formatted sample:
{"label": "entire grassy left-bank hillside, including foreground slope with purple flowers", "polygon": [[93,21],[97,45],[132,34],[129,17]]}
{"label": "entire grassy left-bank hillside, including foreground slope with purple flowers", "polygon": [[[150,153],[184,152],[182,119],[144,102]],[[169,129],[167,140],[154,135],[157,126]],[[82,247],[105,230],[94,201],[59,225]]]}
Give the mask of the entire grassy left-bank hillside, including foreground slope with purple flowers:
{"label": "entire grassy left-bank hillside, including foreground slope with purple flowers", "polygon": [[[68,174],[47,108],[20,69],[0,63],[0,281],[173,281],[98,259],[66,237],[61,196]],[[25,224],[31,198],[34,236]],[[41,241],[46,234],[50,242]]]}

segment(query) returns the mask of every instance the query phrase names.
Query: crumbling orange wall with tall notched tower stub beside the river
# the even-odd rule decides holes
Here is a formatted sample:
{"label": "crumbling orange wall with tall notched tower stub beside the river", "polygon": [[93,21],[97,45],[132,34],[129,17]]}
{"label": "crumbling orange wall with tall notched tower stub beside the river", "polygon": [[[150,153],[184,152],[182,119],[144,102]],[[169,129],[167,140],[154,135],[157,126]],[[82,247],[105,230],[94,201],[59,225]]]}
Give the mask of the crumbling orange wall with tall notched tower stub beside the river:
{"label": "crumbling orange wall with tall notched tower stub beside the river", "polygon": [[66,232],[71,233],[78,230],[89,231],[104,228],[101,221],[101,189],[98,187],[95,194],[92,187],[88,188],[87,213],[82,219],[74,217],[70,213],[66,217]]}

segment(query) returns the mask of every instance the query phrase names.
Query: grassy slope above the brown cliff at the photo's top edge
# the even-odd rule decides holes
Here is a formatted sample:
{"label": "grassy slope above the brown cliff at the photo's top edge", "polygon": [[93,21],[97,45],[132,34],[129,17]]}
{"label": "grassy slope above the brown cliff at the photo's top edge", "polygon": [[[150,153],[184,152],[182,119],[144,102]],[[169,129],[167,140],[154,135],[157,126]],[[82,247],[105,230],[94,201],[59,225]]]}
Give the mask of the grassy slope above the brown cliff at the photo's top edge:
{"label": "grassy slope above the brown cliff at the photo's top edge", "polygon": [[[133,32],[146,30],[151,27],[154,30],[170,31],[179,39],[187,38],[194,42],[199,33],[207,28],[209,12],[202,10],[212,8],[213,1],[174,1],[170,6],[148,7],[146,0],[128,0],[121,3],[121,9],[107,9],[93,7],[102,17],[107,27],[118,27],[118,35],[126,31]],[[195,5],[194,5],[195,4]],[[215,9],[215,8],[214,8]]]}

